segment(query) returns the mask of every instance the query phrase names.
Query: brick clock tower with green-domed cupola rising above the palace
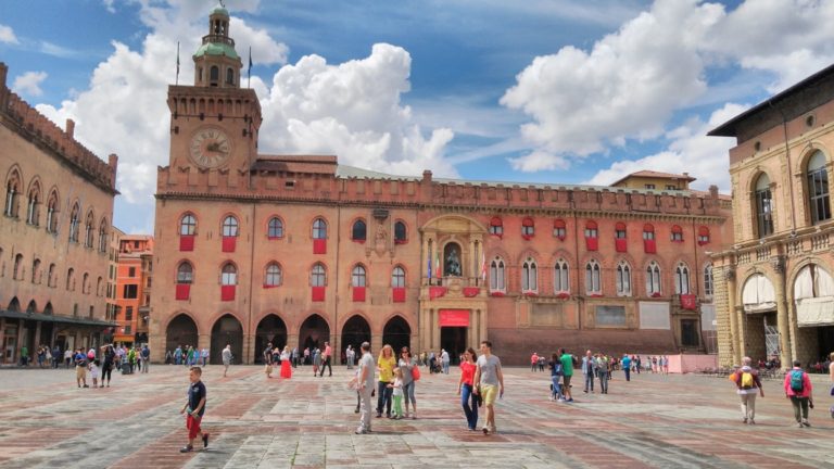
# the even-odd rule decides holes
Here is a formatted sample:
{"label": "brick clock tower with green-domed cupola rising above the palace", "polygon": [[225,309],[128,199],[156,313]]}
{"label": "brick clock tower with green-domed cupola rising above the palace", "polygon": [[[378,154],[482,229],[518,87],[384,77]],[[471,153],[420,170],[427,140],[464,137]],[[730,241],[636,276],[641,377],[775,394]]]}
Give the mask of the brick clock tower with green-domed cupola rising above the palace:
{"label": "brick clock tower with green-domed cupola rising above the palace", "polygon": [[261,104],[254,90],[240,88],[229,20],[223,7],[210,12],[208,34],[193,54],[193,86],[168,87],[173,168],[247,172],[257,155]]}

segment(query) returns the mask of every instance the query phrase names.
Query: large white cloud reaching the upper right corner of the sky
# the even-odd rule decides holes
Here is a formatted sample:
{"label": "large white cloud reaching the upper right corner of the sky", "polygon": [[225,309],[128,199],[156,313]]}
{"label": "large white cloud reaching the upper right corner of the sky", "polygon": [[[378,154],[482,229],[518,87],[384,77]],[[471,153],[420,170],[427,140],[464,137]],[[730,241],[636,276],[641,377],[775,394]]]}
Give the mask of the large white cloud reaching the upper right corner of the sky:
{"label": "large white cloud reaching the upper right corner of the sky", "polygon": [[[533,147],[514,167],[539,170],[630,140],[661,136],[673,113],[709,91],[711,67],[774,77],[775,92],[834,60],[834,2],[747,0],[730,12],[699,0],[656,0],[590,51],[539,56],[501,103],[523,111]],[[774,39],[778,38],[778,39]]]}

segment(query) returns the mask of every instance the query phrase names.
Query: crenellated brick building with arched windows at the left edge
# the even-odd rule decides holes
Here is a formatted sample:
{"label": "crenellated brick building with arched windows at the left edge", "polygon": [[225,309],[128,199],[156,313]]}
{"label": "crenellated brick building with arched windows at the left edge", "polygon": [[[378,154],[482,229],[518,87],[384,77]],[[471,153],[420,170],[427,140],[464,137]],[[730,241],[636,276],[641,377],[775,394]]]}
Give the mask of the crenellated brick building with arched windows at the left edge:
{"label": "crenellated brick building with arched windows at the left edge", "polygon": [[104,163],[13,93],[0,63],[0,363],[108,340],[116,155]]}

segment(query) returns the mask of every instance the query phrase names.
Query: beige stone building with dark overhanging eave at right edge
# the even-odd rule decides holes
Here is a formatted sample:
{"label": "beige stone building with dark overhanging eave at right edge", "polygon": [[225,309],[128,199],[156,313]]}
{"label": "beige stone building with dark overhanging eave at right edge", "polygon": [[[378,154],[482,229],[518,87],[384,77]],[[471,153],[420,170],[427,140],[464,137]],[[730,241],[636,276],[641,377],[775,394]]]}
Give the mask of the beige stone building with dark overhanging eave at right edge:
{"label": "beige stone building with dark overhanging eave at right edge", "polygon": [[834,351],[834,66],[712,130],[730,150],[735,241],[713,255],[720,363]]}

